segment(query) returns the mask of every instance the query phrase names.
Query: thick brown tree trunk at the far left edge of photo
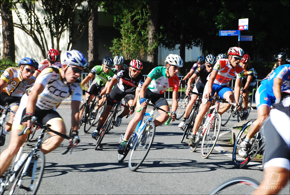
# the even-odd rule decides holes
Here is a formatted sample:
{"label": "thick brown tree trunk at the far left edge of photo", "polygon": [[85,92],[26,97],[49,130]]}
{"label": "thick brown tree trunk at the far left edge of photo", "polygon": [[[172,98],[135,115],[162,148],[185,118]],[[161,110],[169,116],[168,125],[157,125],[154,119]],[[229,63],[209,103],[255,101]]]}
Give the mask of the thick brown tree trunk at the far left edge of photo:
{"label": "thick brown tree trunk at the far left edge of photo", "polygon": [[11,7],[8,5],[6,2],[1,1],[3,58],[10,58],[11,61],[15,62],[14,27],[3,19],[5,17],[13,22]]}

